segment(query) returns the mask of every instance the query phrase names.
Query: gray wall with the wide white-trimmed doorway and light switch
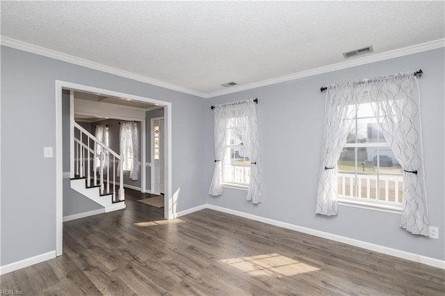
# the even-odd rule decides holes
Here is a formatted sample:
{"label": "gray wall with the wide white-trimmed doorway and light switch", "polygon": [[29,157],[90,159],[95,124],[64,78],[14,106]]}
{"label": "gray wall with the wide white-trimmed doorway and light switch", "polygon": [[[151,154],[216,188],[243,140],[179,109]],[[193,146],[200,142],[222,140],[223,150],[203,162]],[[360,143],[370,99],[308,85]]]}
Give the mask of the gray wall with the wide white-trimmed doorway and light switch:
{"label": "gray wall with the wide white-trimmed doorway and light switch", "polygon": [[[191,174],[202,171],[204,135],[190,133],[202,129],[202,98],[2,46],[0,265],[56,249],[56,158],[43,158],[43,147],[56,147],[56,80],[172,102],[177,211],[205,202],[202,180]],[[24,167],[29,190],[17,178]]]}

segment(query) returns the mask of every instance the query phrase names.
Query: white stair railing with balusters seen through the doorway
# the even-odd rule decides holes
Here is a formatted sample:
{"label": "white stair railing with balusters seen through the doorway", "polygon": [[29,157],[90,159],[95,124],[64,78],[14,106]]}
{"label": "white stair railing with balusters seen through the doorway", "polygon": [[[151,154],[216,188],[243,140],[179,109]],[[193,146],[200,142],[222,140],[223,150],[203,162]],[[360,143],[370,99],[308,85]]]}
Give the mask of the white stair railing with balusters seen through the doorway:
{"label": "white stair railing with balusters seen through the doorway", "polygon": [[[122,178],[123,170],[121,157],[110,147],[107,147],[104,142],[99,141],[94,135],[89,133],[86,129],[76,122],[72,123],[74,129],[72,138],[74,147],[73,154],[74,165],[71,166],[71,175],[80,178],[86,178],[86,186],[100,186],[100,194],[112,194],[113,202],[121,202],[125,199],[124,195],[124,180]],[[98,152],[100,153],[98,155]],[[113,161],[110,161],[110,156],[113,156]],[[99,159],[99,161],[98,161]],[[92,170],[91,170],[91,161]],[[99,166],[97,165],[99,164]],[[119,190],[116,192],[116,172],[119,170]],[[112,171],[112,174],[111,174]],[[97,175],[99,174],[99,183],[97,182]],[[104,179],[106,178],[106,183]],[[110,183],[113,187],[111,188]],[[112,189],[112,191],[110,191]]]}

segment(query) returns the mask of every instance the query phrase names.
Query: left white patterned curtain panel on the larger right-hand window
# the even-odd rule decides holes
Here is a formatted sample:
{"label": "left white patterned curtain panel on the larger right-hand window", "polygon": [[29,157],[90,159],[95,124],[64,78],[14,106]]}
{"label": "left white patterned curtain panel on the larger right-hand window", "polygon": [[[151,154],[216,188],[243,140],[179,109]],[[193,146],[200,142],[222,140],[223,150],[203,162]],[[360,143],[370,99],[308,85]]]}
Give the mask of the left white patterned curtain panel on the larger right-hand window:
{"label": "left white patterned curtain panel on the larger right-hand window", "polygon": [[325,135],[318,176],[316,213],[337,215],[337,162],[355,117],[355,104],[363,97],[364,81],[328,85]]}

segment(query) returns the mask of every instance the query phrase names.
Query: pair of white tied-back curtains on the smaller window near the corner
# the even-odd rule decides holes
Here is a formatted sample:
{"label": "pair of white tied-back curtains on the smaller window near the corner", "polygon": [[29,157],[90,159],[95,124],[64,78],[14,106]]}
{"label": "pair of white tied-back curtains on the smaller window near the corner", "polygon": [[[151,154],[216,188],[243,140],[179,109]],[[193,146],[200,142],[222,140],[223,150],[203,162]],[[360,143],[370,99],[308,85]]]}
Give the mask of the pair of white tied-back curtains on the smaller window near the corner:
{"label": "pair of white tied-back curtains on the smaller window near the corner", "polygon": [[[214,111],[214,152],[215,166],[209,194],[218,196],[223,194],[223,167],[222,160],[225,143],[228,137],[229,124],[234,124],[240,129],[246,154],[249,155],[250,181],[246,199],[253,204],[262,202],[261,190],[261,158],[259,149],[259,136],[257,124],[257,110],[254,99],[236,101],[227,104],[216,105]],[[235,123],[234,123],[235,122]]]}

